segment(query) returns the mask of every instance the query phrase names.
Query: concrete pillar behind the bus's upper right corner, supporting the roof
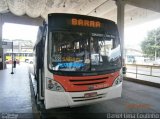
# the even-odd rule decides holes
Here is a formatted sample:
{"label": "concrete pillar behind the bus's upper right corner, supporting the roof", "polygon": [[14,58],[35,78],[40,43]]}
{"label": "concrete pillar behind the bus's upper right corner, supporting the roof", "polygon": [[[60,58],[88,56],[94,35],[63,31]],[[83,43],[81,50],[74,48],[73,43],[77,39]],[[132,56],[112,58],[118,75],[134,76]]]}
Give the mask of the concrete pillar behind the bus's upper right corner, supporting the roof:
{"label": "concrete pillar behind the bus's upper right corner, supporting the roof", "polygon": [[122,57],[124,58],[124,6],[123,0],[116,0],[117,5],[117,25],[121,40]]}

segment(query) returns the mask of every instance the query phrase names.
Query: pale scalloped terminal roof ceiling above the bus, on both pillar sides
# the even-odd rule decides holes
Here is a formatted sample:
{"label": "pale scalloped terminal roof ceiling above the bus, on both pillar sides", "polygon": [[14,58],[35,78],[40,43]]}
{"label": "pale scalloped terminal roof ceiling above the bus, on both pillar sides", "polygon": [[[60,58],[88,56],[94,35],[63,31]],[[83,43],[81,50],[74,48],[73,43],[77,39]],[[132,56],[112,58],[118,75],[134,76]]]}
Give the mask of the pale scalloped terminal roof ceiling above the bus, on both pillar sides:
{"label": "pale scalloped terminal roof ceiling above the bus, on both pillar sides", "polygon": [[[74,13],[117,21],[116,0],[0,0],[0,13],[46,18],[48,13]],[[125,24],[160,18],[159,0],[123,0]]]}

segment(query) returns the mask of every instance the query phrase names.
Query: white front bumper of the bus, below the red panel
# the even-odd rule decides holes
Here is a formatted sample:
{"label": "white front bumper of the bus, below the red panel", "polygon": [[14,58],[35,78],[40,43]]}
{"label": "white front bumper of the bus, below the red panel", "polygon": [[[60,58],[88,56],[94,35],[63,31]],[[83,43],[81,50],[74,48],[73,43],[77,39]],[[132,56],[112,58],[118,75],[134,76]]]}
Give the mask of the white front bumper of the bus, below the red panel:
{"label": "white front bumper of the bus, below the red panel", "polygon": [[[105,89],[85,92],[53,92],[50,90],[45,91],[46,109],[75,107],[121,97],[122,83]],[[86,97],[86,94],[96,95]]]}

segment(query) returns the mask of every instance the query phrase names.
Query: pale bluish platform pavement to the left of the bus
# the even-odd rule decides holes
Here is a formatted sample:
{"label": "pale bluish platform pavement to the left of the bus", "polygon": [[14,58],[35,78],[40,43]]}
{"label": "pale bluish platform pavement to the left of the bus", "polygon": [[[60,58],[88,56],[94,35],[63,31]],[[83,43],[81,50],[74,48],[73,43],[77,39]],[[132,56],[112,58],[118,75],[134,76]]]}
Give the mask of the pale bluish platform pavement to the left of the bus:
{"label": "pale bluish platform pavement to the left of the bus", "polygon": [[18,64],[13,70],[14,74],[11,71],[10,64],[7,69],[0,70],[0,118],[8,114],[33,118],[27,64]]}

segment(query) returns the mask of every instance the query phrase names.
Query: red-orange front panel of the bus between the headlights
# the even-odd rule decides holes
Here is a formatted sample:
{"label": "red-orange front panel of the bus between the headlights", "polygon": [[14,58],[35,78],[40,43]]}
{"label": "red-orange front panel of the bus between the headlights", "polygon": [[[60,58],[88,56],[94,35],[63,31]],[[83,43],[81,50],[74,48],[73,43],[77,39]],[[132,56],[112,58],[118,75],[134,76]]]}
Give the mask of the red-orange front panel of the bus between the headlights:
{"label": "red-orange front panel of the bus between the headlights", "polygon": [[66,92],[82,92],[111,87],[119,71],[98,76],[59,76],[54,75],[53,79],[60,83]]}

